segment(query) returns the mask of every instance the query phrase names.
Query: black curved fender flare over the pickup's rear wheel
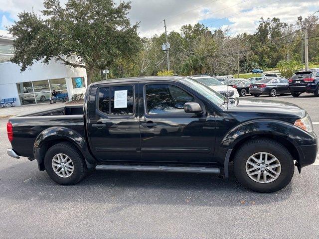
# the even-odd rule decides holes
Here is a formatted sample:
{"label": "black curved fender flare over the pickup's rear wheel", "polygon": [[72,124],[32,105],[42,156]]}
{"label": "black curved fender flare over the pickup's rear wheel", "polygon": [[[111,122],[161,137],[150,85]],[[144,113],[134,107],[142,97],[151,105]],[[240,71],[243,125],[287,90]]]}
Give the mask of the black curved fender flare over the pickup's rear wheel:
{"label": "black curved fender flare over the pickup's rear wheel", "polygon": [[79,151],[83,154],[84,158],[91,164],[95,163],[95,159],[89,152],[85,137],[79,134],[77,131],[61,126],[54,126],[44,129],[36,137],[33,147],[34,157],[38,160],[40,170],[43,170],[43,160],[46,151],[46,147],[42,147],[47,142],[66,140],[73,143]]}

